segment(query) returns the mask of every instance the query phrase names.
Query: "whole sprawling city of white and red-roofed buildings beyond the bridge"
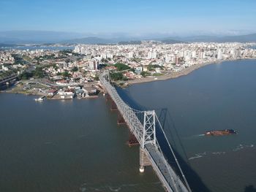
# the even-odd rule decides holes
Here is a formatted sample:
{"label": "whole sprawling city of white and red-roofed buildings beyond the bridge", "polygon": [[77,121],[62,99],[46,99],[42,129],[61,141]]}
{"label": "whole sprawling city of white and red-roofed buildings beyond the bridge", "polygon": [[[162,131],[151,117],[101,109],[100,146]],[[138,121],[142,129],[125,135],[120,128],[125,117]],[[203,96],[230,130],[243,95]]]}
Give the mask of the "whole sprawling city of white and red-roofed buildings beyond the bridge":
{"label": "whole sprawling city of white and red-roofed buildings beyond the bridge", "polygon": [[[116,72],[116,64],[127,65],[127,70],[119,69],[118,72],[124,76],[123,80],[133,80],[179,72],[197,64],[256,58],[256,49],[252,45],[256,44],[195,42],[167,45],[144,41],[140,45],[76,45],[74,50],[0,50],[0,76],[4,72],[7,75],[12,71],[16,74],[31,72],[39,67],[42,70],[39,73],[44,75],[39,77],[40,83],[63,87],[54,93],[71,99],[75,95],[89,96],[97,90],[91,90],[91,85],[97,84],[102,67]],[[26,62],[19,63],[20,59]]]}

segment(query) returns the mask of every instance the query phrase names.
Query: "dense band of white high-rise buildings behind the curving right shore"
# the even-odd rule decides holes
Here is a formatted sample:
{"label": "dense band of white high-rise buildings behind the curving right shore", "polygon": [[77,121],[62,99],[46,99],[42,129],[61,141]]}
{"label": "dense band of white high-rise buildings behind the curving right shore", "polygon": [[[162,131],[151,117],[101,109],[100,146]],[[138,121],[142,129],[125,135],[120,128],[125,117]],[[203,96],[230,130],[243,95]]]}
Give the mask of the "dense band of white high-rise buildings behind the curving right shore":
{"label": "dense band of white high-rise buildings behind the curving right shore", "polygon": [[239,58],[255,58],[256,50],[250,48],[252,43],[179,43],[165,45],[143,42],[141,45],[77,45],[75,53],[84,55],[89,64],[108,64],[121,62],[140,72],[148,71],[148,65],[161,66],[160,71],[178,72],[181,69],[202,64]]}

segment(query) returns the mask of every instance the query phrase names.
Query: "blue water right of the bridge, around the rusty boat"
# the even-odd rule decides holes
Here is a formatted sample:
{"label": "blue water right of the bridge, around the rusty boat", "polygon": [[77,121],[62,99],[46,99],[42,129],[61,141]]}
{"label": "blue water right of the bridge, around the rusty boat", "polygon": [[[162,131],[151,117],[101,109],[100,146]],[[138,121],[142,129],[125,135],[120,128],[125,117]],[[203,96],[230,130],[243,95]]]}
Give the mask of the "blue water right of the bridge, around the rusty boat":
{"label": "blue water right of the bridge, around the rusty boat", "polygon": [[[132,107],[156,110],[183,166],[195,171],[190,176],[191,170],[185,171],[195,191],[197,184],[217,192],[256,188],[255,60],[211,64],[174,80],[118,91]],[[238,134],[203,135],[225,128]],[[193,180],[195,174],[200,182]]]}

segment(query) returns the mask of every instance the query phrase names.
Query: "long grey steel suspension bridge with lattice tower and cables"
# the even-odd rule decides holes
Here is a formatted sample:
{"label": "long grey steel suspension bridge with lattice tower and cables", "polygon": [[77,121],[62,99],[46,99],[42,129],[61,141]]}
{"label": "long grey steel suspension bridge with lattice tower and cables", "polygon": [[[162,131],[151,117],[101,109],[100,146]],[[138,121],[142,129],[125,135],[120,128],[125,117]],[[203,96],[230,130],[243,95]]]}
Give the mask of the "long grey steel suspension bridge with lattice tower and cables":
{"label": "long grey steel suspension bridge with lattice tower and cables", "polygon": [[[105,93],[108,93],[116,104],[116,108],[120,112],[124,122],[127,123],[129,130],[134,134],[140,144],[140,172],[144,172],[145,166],[151,165],[166,191],[191,192],[186,177],[173,152],[173,148],[168,142],[165,132],[159,123],[156,112],[154,110],[140,111],[129,107],[118,95],[116,88],[111,85],[108,71],[102,72],[99,76],[99,80]],[[182,177],[176,174],[172,166],[168,164],[164,153],[162,153],[159,142],[157,141],[156,126],[162,130]]]}

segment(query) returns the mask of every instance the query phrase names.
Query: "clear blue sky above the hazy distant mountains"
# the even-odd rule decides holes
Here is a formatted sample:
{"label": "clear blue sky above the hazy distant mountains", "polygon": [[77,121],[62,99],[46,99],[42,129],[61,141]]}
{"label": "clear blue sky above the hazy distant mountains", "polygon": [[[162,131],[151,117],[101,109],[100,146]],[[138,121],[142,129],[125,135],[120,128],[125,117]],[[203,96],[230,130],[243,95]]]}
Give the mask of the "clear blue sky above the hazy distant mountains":
{"label": "clear blue sky above the hazy distant mountains", "polygon": [[0,0],[0,31],[247,34],[256,0]]}

